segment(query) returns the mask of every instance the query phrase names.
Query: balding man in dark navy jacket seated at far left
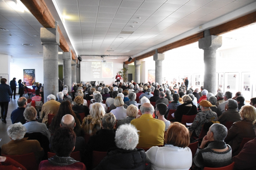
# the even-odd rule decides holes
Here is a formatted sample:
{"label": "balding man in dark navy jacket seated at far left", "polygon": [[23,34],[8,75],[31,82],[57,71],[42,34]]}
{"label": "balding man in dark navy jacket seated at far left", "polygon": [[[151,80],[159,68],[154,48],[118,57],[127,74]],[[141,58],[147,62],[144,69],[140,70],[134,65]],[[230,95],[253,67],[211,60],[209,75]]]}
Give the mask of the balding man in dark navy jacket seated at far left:
{"label": "balding man in dark navy jacket seated at far left", "polygon": [[28,100],[25,98],[25,97],[20,97],[18,99],[18,108],[13,110],[12,111],[12,114],[11,114],[11,120],[12,120],[12,124],[15,124],[15,123],[22,123],[22,124],[25,124],[26,123],[26,119],[25,117],[23,116],[23,112],[28,104],[27,102]]}

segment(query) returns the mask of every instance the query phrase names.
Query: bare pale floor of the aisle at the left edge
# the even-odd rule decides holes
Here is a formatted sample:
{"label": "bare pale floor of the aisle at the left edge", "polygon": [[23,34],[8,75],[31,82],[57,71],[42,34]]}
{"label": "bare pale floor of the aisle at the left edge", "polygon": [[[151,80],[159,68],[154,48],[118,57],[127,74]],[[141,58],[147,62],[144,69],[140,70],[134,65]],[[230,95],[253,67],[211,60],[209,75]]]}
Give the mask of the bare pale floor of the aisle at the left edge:
{"label": "bare pale floor of the aisle at the left edge", "polygon": [[0,139],[2,138],[2,140],[0,142],[0,147],[2,147],[3,144],[6,144],[11,140],[9,138],[9,136],[7,135],[7,133],[6,133],[6,130],[7,130],[8,126],[12,125],[11,113],[12,113],[13,110],[18,108],[18,104],[17,104],[18,99],[19,99],[19,95],[17,94],[16,99],[11,99],[11,101],[9,103],[7,117],[6,117],[7,124],[4,124],[0,120]]}

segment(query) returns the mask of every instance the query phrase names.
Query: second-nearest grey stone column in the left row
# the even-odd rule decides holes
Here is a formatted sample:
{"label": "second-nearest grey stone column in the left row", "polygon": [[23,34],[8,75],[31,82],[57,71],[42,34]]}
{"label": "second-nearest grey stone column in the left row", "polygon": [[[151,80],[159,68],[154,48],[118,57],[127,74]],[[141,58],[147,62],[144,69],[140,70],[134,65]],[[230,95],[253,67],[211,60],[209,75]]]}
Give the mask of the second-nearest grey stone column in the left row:
{"label": "second-nearest grey stone column in the left row", "polygon": [[64,85],[68,86],[68,91],[71,90],[71,61],[72,61],[72,54],[71,52],[63,52],[63,79]]}

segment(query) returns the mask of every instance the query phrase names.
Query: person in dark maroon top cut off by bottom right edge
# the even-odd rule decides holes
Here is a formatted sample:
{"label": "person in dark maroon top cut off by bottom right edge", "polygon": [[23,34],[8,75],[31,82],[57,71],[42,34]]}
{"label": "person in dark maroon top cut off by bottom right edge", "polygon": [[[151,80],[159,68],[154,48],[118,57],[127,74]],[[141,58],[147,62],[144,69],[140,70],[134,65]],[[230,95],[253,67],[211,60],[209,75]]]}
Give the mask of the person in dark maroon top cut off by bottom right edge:
{"label": "person in dark maroon top cut off by bottom right edge", "polygon": [[[240,97],[240,96],[238,96]],[[237,98],[238,98],[237,97]],[[236,98],[236,99],[237,99]],[[253,122],[253,127],[255,135],[256,135],[256,120]],[[247,169],[254,170],[256,169],[256,138],[250,140],[246,144],[241,152],[238,155],[234,156],[232,160],[235,162],[234,169]]]}

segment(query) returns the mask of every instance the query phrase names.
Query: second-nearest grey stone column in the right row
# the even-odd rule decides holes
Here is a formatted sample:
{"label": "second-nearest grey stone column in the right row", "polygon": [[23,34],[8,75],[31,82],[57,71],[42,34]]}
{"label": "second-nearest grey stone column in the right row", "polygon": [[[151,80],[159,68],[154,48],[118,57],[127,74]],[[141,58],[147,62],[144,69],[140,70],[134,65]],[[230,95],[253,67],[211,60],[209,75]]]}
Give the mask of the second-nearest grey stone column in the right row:
{"label": "second-nearest grey stone column in the right row", "polygon": [[153,60],[156,62],[156,82],[158,82],[158,84],[162,84],[163,79],[163,63],[162,61],[164,60],[164,54],[162,53],[158,53],[156,50],[156,54],[153,55]]}

